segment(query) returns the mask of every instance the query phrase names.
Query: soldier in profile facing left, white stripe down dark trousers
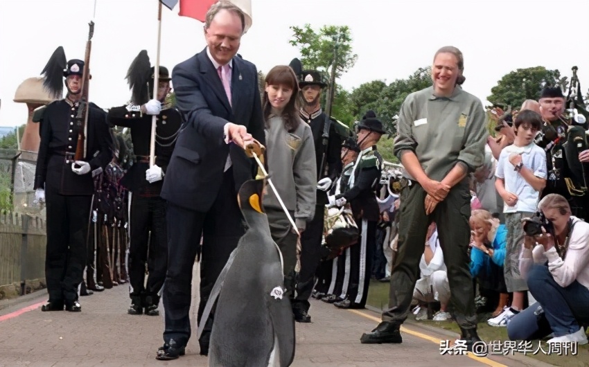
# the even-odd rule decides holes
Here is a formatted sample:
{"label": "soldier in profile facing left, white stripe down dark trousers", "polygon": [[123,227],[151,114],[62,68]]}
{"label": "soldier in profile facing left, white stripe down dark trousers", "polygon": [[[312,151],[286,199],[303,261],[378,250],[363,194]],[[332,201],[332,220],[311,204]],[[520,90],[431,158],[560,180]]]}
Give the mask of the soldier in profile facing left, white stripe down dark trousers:
{"label": "soldier in profile facing left, white stripe down dark trousers", "polygon": [[343,206],[350,203],[360,229],[360,243],[353,245],[350,251],[350,277],[346,299],[334,303],[340,308],[364,308],[368,297],[373,253],[376,249],[376,224],[380,219],[376,188],[383,170],[383,157],[376,150],[376,143],[383,134],[383,123],[376,118],[373,111],[368,111],[358,125],[360,154],[355,161],[348,190],[328,198],[330,205]]}

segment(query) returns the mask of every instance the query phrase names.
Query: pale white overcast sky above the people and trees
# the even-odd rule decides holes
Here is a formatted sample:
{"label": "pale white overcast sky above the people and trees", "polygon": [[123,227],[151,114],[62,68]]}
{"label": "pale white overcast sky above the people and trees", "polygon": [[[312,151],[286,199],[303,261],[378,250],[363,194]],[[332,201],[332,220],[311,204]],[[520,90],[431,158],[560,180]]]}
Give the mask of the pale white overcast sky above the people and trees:
{"label": "pale white overcast sky above the people and trees", "polygon": [[[194,0],[197,1],[197,0]],[[155,63],[157,0],[96,0],[90,99],[103,108],[130,96],[125,73],[147,49]],[[24,104],[12,102],[19,84],[42,71],[51,53],[84,58],[94,0],[0,0],[0,126],[26,123]],[[204,48],[202,23],[164,8],[161,64],[168,69]],[[392,82],[428,66],[435,51],[464,54],[464,89],[485,102],[502,75],[545,66],[570,77],[579,66],[589,87],[587,0],[252,0],[253,25],[240,54],[269,71],[298,57],[289,26],[351,28],[358,62],[340,84],[351,90],[371,80]]]}

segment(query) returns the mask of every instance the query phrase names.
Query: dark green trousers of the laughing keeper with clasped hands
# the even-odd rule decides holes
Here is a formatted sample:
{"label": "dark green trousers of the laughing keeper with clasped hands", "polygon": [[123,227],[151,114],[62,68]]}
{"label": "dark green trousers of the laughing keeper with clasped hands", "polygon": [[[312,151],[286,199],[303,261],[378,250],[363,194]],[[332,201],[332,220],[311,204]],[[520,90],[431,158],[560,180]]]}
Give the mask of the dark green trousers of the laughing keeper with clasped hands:
{"label": "dark green trousers of the laughing keeper with clasped hands", "polygon": [[419,261],[423,255],[425,235],[431,222],[436,222],[443,260],[448,268],[450,307],[458,325],[464,329],[477,327],[473,278],[469,269],[468,242],[471,227],[471,194],[468,182],[462,181],[450,189],[431,215],[425,215],[425,190],[412,181],[401,191],[399,208],[398,253],[391,274],[389,310],[383,321],[403,323],[413,299],[415,283],[419,279]]}

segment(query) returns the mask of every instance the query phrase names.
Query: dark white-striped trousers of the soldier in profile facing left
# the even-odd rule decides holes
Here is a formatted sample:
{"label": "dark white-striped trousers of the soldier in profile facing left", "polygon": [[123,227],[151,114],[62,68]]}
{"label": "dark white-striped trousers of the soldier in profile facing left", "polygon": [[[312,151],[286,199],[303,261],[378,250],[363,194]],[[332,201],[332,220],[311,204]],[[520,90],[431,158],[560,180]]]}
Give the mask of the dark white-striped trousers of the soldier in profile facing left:
{"label": "dark white-striped trousers of the soldier in profile facing left", "polygon": [[358,220],[360,241],[350,247],[350,276],[347,299],[364,307],[372,273],[372,260],[376,248],[376,222]]}

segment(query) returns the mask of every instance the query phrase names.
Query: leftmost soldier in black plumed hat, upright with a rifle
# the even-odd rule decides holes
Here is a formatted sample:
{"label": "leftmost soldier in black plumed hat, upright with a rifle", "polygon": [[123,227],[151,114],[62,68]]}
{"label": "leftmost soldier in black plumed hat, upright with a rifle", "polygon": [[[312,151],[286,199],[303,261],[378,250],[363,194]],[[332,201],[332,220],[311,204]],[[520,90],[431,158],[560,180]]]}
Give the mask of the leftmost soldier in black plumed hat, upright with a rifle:
{"label": "leftmost soldier in black plumed hat, upright with a rifle", "polygon": [[34,189],[37,202],[46,202],[45,276],[49,292],[49,302],[42,311],[63,310],[65,306],[77,312],[82,310],[78,286],[87,258],[92,177],[112,159],[112,136],[105,111],[87,103],[85,62],[73,59],[66,63],[60,46],[43,73],[44,86],[54,96],[62,96],[65,78],[67,96],[37,114],[41,143]]}

